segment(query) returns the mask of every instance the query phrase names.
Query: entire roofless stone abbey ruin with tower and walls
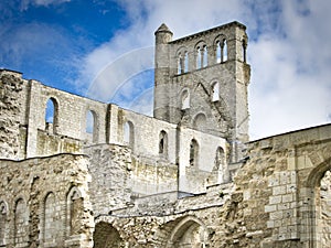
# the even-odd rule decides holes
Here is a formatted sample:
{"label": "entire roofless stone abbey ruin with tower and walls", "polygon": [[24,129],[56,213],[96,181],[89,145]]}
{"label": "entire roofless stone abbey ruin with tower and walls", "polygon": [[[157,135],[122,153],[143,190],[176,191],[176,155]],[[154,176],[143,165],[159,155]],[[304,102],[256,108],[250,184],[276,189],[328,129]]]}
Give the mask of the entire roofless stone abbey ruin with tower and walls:
{"label": "entire roofless stone abbey ruin with tower and walls", "polygon": [[162,24],[153,117],[1,69],[0,247],[331,247],[331,125],[249,141],[247,44]]}

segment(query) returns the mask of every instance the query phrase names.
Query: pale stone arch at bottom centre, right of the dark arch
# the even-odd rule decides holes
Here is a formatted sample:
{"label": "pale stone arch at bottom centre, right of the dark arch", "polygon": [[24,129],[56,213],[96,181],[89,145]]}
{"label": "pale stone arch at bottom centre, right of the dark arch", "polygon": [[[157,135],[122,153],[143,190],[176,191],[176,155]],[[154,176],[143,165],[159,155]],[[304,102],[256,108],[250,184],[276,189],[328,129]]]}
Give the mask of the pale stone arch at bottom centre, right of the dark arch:
{"label": "pale stone arch at bottom centre, right of the dark arch", "polygon": [[209,244],[207,228],[202,220],[195,216],[184,217],[171,231],[168,248],[182,247],[205,247]]}

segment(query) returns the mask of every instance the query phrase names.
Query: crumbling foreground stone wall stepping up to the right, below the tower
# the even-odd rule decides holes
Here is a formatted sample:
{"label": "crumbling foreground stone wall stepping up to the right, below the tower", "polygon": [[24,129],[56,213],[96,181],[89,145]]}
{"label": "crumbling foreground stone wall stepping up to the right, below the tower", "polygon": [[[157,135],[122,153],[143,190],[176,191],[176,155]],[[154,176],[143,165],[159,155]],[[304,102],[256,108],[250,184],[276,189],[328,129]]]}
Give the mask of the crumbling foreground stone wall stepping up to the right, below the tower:
{"label": "crumbling foreground stone wall stepping up to the right, below the tower", "polygon": [[330,247],[331,126],[248,147],[233,184],[140,197],[97,225],[118,231],[120,247]]}

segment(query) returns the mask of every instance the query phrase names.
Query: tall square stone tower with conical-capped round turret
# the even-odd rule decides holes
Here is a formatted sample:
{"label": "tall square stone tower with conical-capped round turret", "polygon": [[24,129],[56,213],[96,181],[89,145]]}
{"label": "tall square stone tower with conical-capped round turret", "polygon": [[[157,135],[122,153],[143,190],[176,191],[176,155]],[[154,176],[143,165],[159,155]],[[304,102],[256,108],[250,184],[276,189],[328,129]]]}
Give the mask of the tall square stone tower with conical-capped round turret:
{"label": "tall square stone tower with conical-capped round turret", "polygon": [[166,24],[156,31],[154,117],[225,138],[229,162],[248,141],[245,30],[232,22],[175,41]]}

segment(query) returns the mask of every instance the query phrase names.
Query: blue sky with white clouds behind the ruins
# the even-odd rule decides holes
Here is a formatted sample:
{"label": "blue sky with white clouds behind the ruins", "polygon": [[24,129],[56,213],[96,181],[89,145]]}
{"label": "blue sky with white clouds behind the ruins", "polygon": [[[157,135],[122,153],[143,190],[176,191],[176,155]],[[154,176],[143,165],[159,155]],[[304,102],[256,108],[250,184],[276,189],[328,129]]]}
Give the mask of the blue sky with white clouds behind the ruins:
{"label": "blue sky with white clouds behind the ruins", "polygon": [[329,0],[0,1],[0,68],[151,115],[154,31],[247,26],[250,140],[331,122]]}

